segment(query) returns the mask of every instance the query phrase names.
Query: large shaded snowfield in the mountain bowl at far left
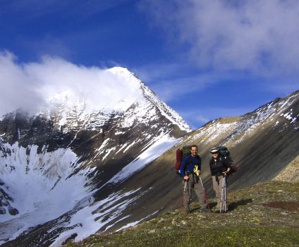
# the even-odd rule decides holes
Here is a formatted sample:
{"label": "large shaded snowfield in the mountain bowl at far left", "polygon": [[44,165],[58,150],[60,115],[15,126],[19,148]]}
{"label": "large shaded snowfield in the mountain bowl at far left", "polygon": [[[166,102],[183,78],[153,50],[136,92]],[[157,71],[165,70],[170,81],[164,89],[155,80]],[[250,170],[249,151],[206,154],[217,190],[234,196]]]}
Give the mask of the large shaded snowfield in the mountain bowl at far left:
{"label": "large shaded snowfield in the mountain bowl at far left", "polygon": [[38,154],[37,148],[1,144],[0,174],[14,200],[10,204],[19,214],[1,215],[0,239],[12,240],[27,228],[53,220],[84,198],[92,201],[92,193],[85,187],[91,169],[69,176],[80,165],[74,152],[58,149]]}

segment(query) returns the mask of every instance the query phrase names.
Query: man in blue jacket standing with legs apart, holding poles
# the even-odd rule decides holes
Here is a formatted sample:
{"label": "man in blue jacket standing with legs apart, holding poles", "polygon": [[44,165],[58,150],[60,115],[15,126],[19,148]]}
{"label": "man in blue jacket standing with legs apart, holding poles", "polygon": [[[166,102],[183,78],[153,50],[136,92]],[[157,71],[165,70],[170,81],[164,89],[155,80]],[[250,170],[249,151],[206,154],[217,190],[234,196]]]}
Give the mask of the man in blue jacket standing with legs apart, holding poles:
{"label": "man in blue jacket standing with legs apart, holding poles", "polygon": [[201,174],[201,158],[197,154],[197,145],[191,145],[191,154],[187,155],[181,162],[180,174],[184,179],[184,210],[186,213],[190,213],[190,201],[192,198],[192,192],[195,191],[197,198],[199,199],[200,210],[202,212],[208,212],[206,208],[205,200],[203,198],[203,188],[199,182],[199,176]]}

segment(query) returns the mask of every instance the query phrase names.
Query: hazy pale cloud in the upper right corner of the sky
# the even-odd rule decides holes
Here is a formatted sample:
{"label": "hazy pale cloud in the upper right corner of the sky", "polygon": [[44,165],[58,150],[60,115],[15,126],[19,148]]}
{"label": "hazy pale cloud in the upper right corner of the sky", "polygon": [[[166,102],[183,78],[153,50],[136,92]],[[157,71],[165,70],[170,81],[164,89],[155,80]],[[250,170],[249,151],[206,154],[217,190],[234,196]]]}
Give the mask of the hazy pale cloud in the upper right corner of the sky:
{"label": "hazy pale cloud in the upper right corner of the sky", "polygon": [[201,69],[284,75],[299,69],[299,1],[142,1]]}

